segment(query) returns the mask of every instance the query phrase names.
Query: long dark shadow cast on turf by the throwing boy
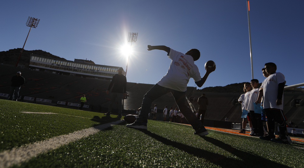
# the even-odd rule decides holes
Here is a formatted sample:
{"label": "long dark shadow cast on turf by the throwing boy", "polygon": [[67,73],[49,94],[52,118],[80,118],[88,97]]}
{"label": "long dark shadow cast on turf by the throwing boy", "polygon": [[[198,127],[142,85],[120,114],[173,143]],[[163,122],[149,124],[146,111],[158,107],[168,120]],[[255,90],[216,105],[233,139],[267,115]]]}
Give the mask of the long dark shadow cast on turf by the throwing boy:
{"label": "long dark shadow cast on turf by the throwing boy", "polygon": [[214,163],[215,165],[221,166],[221,167],[264,167],[264,166],[271,166],[271,167],[288,167],[286,165],[282,165],[280,163],[273,162],[269,159],[265,159],[261,156],[257,156],[254,154],[251,154],[249,152],[240,151],[237,148],[233,148],[230,145],[225,144],[222,141],[219,141],[217,139],[211,138],[211,137],[202,137],[204,140],[212,143],[213,145],[216,145],[223,150],[226,150],[227,152],[230,152],[231,154],[237,156],[240,159],[233,159],[228,158],[224,155],[216,154],[213,152],[209,152],[203,149],[194,148],[189,145],[185,145],[179,142],[171,141],[167,138],[161,137],[157,134],[154,134],[148,130],[140,130],[144,134],[149,135],[150,137],[161,141],[162,143],[166,145],[170,145],[174,148],[177,148],[179,150],[185,151],[188,154],[194,155],[199,158],[203,158],[208,160],[211,163]]}

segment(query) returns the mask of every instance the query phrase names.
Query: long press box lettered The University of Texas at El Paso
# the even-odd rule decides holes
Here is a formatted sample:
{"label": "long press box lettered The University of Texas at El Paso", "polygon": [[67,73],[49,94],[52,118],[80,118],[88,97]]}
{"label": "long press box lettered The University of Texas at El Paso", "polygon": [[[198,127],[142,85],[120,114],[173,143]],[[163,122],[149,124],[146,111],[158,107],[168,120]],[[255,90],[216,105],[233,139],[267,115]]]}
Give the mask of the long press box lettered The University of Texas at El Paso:
{"label": "long press box lettered The University of Texas at El Paso", "polygon": [[[39,71],[99,79],[112,79],[118,73],[117,69],[119,68],[119,66],[98,65],[91,60],[74,59],[74,61],[69,61],[35,54],[30,54],[29,66]],[[125,71],[123,71],[124,74]]]}

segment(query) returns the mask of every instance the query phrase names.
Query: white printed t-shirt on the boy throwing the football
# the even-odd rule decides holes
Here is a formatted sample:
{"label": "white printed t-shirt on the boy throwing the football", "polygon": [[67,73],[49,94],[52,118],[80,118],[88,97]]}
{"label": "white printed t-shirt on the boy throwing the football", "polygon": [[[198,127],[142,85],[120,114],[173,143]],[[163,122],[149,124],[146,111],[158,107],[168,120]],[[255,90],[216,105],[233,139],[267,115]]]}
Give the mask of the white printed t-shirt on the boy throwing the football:
{"label": "white printed t-shirt on the boy throwing the football", "polygon": [[195,82],[201,80],[199,69],[194,64],[191,55],[185,55],[170,49],[169,56],[171,64],[167,74],[157,82],[158,85],[173,89],[175,91],[187,91],[187,84],[190,78]]}

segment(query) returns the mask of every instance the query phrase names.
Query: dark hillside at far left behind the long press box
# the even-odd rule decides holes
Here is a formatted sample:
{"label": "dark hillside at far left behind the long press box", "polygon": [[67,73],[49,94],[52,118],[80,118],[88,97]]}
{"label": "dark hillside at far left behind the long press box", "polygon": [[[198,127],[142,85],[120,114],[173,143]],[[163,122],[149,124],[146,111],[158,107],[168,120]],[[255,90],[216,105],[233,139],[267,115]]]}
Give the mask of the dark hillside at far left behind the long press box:
{"label": "dark hillside at far left behind the long press box", "polygon": [[[15,49],[10,49],[9,51],[1,51],[0,52],[0,62],[3,64],[16,65],[21,50],[22,50],[22,48],[15,48]],[[23,50],[18,64],[22,64],[25,67],[29,67],[30,54],[47,56],[47,57],[57,58],[57,59],[60,58],[56,55],[53,55],[49,52],[45,52],[42,50],[31,50],[31,51]],[[64,58],[60,58],[60,59],[64,59]]]}

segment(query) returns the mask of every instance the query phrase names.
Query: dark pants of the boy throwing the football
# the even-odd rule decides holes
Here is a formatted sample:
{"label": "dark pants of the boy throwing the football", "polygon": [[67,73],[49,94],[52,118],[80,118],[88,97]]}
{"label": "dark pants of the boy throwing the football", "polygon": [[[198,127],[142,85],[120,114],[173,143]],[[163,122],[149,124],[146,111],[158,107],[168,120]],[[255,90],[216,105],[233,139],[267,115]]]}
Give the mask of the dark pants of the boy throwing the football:
{"label": "dark pants of the boy throwing the football", "polygon": [[150,113],[150,107],[152,102],[161,97],[164,94],[171,92],[178,108],[181,110],[181,113],[188,120],[193,129],[198,130],[202,123],[197,119],[192,110],[187,106],[186,103],[186,92],[175,91],[173,89],[164,88],[158,84],[155,84],[147,93],[144,95],[143,103],[141,106],[141,111],[139,117],[136,119],[138,122],[148,122],[148,114]]}

